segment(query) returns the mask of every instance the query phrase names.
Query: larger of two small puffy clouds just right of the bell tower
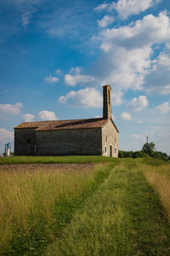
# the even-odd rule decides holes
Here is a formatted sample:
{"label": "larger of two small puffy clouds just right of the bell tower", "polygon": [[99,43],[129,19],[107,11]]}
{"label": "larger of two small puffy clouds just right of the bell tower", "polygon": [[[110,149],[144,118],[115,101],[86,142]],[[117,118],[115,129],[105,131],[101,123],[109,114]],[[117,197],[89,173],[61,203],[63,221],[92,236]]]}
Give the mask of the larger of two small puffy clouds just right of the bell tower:
{"label": "larger of two small puffy clouds just right of the bell tower", "polygon": [[148,106],[148,100],[146,96],[134,97],[131,102],[128,102],[127,106],[134,111],[140,111]]}

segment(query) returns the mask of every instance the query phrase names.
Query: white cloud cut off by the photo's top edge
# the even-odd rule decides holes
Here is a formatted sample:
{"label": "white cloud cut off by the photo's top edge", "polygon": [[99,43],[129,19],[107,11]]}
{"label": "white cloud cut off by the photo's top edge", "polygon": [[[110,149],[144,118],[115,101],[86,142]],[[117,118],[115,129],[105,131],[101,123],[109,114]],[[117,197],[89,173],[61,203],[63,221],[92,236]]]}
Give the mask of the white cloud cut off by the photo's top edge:
{"label": "white cloud cut off by the photo's top edge", "polygon": [[122,20],[126,20],[131,15],[138,15],[140,12],[144,12],[161,0],[118,0],[116,3],[102,3],[99,4],[95,11],[108,11],[112,12],[116,10]]}

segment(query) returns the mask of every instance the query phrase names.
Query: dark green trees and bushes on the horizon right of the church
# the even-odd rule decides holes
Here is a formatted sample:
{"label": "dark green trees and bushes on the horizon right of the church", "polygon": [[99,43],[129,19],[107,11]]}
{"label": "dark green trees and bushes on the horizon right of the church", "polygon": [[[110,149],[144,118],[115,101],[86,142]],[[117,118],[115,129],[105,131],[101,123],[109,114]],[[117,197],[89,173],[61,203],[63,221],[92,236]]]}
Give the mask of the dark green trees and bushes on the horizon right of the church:
{"label": "dark green trees and bushes on the horizon right of the church", "polygon": [[161,151],[156,151],[154,143],[145,143],[142,150],[140,151],[123,151],[119,150],[120,158],[142,158],[150,156],[160,160],[170,160],[170,155],[168,156],[166,153],[162,153]]}

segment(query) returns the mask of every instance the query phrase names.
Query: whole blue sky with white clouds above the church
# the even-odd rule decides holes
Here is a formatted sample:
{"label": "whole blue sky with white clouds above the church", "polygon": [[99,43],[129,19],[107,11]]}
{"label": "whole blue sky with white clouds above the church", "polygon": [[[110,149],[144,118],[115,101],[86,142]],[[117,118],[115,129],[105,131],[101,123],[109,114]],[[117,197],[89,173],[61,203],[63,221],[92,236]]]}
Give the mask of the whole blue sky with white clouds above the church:
{"label": "whole blue sky with white clouds above the church", "polygon": [[102,116],[119,148],[170,154],[170,2],[0,0],[0,151],[23,121]]}

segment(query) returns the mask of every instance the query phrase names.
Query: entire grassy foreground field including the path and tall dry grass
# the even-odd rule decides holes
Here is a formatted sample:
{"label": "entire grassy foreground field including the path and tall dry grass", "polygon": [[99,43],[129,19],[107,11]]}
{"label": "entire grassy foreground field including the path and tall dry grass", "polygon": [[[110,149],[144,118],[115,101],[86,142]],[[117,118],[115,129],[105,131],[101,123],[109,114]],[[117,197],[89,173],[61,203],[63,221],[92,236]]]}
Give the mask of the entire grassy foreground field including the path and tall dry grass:
{"label": "entire grassy foreground field including the path and tall dry grass", "polygon": [[170,164],[106,159],[0,171],[0,254],[170,255]]}

